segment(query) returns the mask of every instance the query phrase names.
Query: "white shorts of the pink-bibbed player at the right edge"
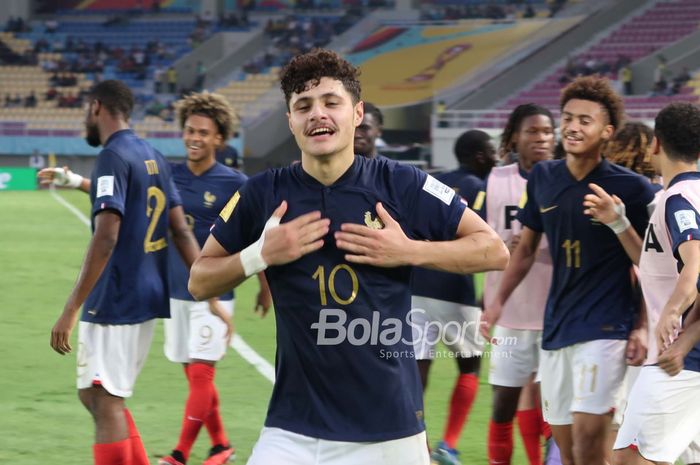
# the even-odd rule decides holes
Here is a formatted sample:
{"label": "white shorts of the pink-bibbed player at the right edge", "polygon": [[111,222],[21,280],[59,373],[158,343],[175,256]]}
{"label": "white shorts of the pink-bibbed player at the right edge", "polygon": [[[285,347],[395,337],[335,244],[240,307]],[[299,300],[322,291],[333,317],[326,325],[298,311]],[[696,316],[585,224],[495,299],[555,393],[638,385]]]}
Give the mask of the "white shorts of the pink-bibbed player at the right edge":
{"label": "white shorts of the pink-bibbed player at the right edge", "polygon": [[[700,458],[700,373],[668,376],[657,366],[642,368],[630,394],[614,449],[635,445],[647,460],[674,463],[683,451]],[[693,462],[686,462],[693,463]]]}

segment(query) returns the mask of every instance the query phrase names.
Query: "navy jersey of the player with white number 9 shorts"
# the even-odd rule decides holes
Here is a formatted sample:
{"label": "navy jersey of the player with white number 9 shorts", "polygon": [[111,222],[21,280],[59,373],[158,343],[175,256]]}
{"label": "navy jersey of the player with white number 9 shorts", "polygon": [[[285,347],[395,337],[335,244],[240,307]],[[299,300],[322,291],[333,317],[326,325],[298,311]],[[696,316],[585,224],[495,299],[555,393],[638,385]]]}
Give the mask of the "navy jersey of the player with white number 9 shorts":
{"label": "navy jersey of the player with white number 9 shorts", "polygon": [[[187,223],[192,228],[200,247],[209,237],[209,230],[224,208],[228,199],[243,185],[247,176],[238,170],[232,170],[216,163],[200,176],[194,175],[186,163],[172,165],[173,181],[182,198]],[[182,261],[175,247],[170,247],[170,297],[173,299],[194,301],[187,290],[190,271]],[[233,292],[219,297],[221,300],[233,299]]]}

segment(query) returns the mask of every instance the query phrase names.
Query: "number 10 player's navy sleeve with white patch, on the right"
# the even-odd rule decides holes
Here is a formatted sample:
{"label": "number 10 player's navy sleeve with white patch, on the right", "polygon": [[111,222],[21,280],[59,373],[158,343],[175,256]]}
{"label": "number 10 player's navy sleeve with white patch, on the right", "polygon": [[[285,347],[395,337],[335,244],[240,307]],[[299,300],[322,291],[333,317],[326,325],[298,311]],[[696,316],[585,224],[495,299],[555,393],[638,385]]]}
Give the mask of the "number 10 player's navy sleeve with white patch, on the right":
{"label": "number 10 player's navy sleeve with white patch, on the right", "polygon": [[401,213],[413,235],[431,241],[454,239],[467,208],[466,200],[417,168],[402,166],[394,174],[399,195],[405,199]]}

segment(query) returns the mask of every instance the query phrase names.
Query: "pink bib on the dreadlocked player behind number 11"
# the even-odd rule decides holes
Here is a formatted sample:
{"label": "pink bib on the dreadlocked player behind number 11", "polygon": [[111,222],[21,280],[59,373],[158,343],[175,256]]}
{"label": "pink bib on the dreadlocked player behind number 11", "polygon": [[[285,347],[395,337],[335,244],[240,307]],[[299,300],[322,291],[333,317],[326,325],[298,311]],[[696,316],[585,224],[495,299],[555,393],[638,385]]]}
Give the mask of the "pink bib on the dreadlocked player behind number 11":
{"label": "pink bib on the dreadlocked player behind number 11", "polygon": [[[517,163],[491,170],[486,184],[486,218],[501,239],[510,244],[514,235],[520,234],[522,225],[516,220],[518,207],[525,204],[525,179]],[[502,272],[486,273],[484,303],[488,307],[496,296]],[[552,281],[552,259],[547,239],[542,236],[537,258],[530,272],[515,288],[503,306],[498,325],[511,329],[541,330],[544,307]]]}

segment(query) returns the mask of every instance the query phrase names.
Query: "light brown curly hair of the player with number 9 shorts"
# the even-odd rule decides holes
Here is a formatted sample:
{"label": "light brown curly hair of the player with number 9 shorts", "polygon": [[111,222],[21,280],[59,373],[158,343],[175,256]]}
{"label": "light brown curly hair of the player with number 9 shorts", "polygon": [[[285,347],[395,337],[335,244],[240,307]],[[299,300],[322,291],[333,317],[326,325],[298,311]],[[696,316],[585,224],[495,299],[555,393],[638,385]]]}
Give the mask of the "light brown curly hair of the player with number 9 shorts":
{"label": "light brown curly hair of the player with number 9 shorts", "polygon": [[185,128],[187,118],[192,115],[205,116],[216,125],[221,138],[226,141],[238,128],[238,116],[226,97],[221,94],[193,92],[175,102],[180,128]]}

